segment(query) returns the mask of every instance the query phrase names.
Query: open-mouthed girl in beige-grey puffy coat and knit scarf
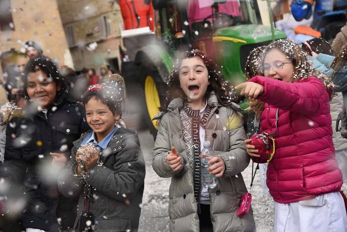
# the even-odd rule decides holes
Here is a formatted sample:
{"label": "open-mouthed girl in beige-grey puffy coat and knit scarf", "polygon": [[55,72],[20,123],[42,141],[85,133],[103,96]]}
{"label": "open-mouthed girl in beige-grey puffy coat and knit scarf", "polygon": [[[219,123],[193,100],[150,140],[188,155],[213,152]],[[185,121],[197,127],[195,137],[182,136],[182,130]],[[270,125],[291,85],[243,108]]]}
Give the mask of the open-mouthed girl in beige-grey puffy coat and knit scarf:
{"label": "open-mouthed girl in beige-grey puffy coat and knit scarf", "polygon": [[[236,216],[247,192],[241,172],[249,157],[230,86],[199,50],[181,54],[168,86],[166,104],[154,117],[160,121],[152,167],[160,177],[171,177],[170,231],[255,231],[252,210]],[[199,155],[204,141],[210,141],[216,154],[208,169],[218,177],[213,189],[201,184]]]}

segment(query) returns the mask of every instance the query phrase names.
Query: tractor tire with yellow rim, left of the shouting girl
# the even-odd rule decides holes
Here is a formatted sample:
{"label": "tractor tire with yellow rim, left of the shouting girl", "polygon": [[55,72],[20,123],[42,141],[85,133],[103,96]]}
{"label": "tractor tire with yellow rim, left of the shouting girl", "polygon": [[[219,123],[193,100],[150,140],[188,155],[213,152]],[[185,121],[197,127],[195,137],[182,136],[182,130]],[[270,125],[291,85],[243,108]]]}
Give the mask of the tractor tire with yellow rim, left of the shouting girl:
{"label": "tractor tire with yellow rim, left of the shouting girl", "polygon": [[167,85],[160,77],[160,74],[154,65],[142,66],[141,80],[145,96],[144,119],[153,135],[154,141],[158,133],[157,120],[151,121],[159,113],[158,107],[165,103]]}

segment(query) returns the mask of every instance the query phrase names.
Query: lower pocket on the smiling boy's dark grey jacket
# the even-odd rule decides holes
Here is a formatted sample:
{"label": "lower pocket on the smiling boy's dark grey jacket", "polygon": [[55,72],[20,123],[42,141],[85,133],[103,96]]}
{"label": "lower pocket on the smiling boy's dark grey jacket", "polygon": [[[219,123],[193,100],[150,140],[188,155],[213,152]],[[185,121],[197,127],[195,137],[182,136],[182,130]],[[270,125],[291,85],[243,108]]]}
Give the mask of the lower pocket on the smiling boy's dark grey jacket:
{"label": "lower pocket on the smiling boy's dark grey jacket", "polygon": [[98,224],[95,224],[95,230],[98,232],[110,231],[132,231],[131,218],[117,217],[117,218],[98,218]]}

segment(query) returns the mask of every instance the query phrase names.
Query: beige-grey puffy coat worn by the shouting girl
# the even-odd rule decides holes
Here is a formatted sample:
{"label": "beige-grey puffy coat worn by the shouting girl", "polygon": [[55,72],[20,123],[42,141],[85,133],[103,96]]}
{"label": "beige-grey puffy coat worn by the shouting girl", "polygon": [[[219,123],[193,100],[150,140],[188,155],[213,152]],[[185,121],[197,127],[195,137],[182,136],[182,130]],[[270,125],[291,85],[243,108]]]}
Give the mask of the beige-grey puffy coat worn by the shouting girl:
{"label": "beige-grey puffy coat worn by the shouting girl", "polygon": [[[209,189],[211,202],[211,221],[214,232],[255,231],[252,208],[240,218],[236,215],[238,203],[247,192],[241,172],[248,166],[249,155],[246,153],[242,127],[236,106],[223,107],[212,94],[208,99],[212,107],[205,129],[205,140],[211,142],[212,149],[225,163],[225,172],[218,178],[214,189]],[[154,119],[160,119],[158,135],[154,144],[153,169],[161,177],[171,177],[169,189],[169,217],[171,232],[199,231],[197,204],[194,197],[192,171],[187,161],[186,145],[183,140],[179,111],[183,99],[171,101],[167,112],[160,112]],[[218,116],[219,117],[218,117]],[[182,167],[174,172],[167,155],[175,146],[183,157]]]}

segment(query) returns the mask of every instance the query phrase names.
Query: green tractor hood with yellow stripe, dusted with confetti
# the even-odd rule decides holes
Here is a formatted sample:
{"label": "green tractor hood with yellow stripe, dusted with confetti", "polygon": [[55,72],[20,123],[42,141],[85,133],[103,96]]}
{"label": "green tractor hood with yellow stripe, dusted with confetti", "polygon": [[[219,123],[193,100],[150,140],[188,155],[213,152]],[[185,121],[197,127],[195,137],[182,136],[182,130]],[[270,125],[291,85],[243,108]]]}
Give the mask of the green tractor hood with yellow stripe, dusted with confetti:
{"label": "green tractor hood with yellow stripe, dusted with confetti", "polygon": [[[274,29],[275,39],[284,39],[286,34]],[[231,40],[240,43],[260,43],[272,40],[271,27],[258,24],[246,24],[219,29],[213,35],[213,41]]]}

